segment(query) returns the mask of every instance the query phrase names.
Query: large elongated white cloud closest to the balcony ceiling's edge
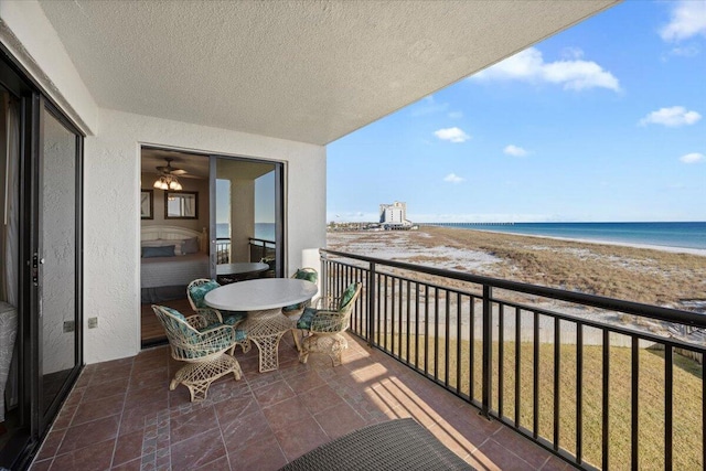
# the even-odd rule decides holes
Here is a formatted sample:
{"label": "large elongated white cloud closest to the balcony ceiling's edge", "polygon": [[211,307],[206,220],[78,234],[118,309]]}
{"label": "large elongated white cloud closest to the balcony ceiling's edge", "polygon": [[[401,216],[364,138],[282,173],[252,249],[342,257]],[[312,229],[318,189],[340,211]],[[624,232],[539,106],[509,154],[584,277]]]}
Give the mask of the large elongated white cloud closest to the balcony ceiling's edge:
{"label": "large elongated white cloud closest to the balcony ceiling's edge", "polygon": [[[580,50],[574,51],[575,55],[578,53],[577,51]],[[597,87],[620,90],[618,78],[595,62],[579,58],[544,62],[542,52],[536,47],[526,49],[507,57],[503,62],[471,76],[471,79],[518,79],[548,82],[574,90]]]}

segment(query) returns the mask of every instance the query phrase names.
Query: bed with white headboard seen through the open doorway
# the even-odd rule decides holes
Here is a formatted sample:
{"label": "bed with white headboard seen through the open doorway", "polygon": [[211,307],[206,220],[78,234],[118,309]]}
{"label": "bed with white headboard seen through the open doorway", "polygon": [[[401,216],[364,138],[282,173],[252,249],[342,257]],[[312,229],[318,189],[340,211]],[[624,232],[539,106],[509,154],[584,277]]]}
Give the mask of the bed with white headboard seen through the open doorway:
{"label": "bed with white headboard seen through the open doorway", "polygon": [[176,226],[147,226],[140,233],[142,303],[185,297],[186,285],[208,278],[208,237]]}

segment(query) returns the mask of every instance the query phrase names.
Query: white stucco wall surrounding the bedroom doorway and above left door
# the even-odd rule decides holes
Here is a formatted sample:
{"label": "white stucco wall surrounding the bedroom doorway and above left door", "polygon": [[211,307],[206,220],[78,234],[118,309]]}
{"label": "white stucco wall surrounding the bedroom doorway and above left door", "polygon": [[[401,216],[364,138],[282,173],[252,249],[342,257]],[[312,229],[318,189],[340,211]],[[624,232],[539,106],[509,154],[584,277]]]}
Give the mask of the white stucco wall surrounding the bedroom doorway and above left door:
{"label": "white stucco wall surrounding the bedroom doorway and above left door", "polygon": [[[303,265],[304,250],[325,245],[324,147],[99,108],[35,0],[0,1],[0,41],[89,135],[84,150],[86,363],[140,350],[141,143],[287,162],[287,272]],[[89,330],[93,317],[98,328]]]}

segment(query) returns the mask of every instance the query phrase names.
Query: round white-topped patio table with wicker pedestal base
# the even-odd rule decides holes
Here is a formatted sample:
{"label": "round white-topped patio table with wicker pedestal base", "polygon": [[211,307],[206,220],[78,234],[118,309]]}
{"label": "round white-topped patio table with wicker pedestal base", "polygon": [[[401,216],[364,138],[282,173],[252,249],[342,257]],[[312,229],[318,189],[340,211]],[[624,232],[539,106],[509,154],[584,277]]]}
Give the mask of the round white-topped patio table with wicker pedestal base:
{"label": "round white-topped patio table with wicker pedestal base", "polygon": [[318,290],[317,285],[307,280],[260,278],[216,288],[204,301],[220,310],[247,311],[247,319],[239,328],[257,345],[259,370],[264,373],[279,367],[279,341],[295,328],[295,322],[282,314],[282,308],[308,301]]}

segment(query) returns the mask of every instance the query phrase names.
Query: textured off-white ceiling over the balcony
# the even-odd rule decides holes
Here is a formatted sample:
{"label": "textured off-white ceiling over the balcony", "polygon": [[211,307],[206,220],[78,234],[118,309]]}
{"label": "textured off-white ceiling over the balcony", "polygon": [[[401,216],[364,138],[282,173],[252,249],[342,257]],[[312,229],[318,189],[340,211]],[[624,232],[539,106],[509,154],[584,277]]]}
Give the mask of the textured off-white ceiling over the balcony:
{"label": "textured off-white ceiling over the balcony", "polygon": [[40,0],[99,106],[329,143],[614,0]]}

